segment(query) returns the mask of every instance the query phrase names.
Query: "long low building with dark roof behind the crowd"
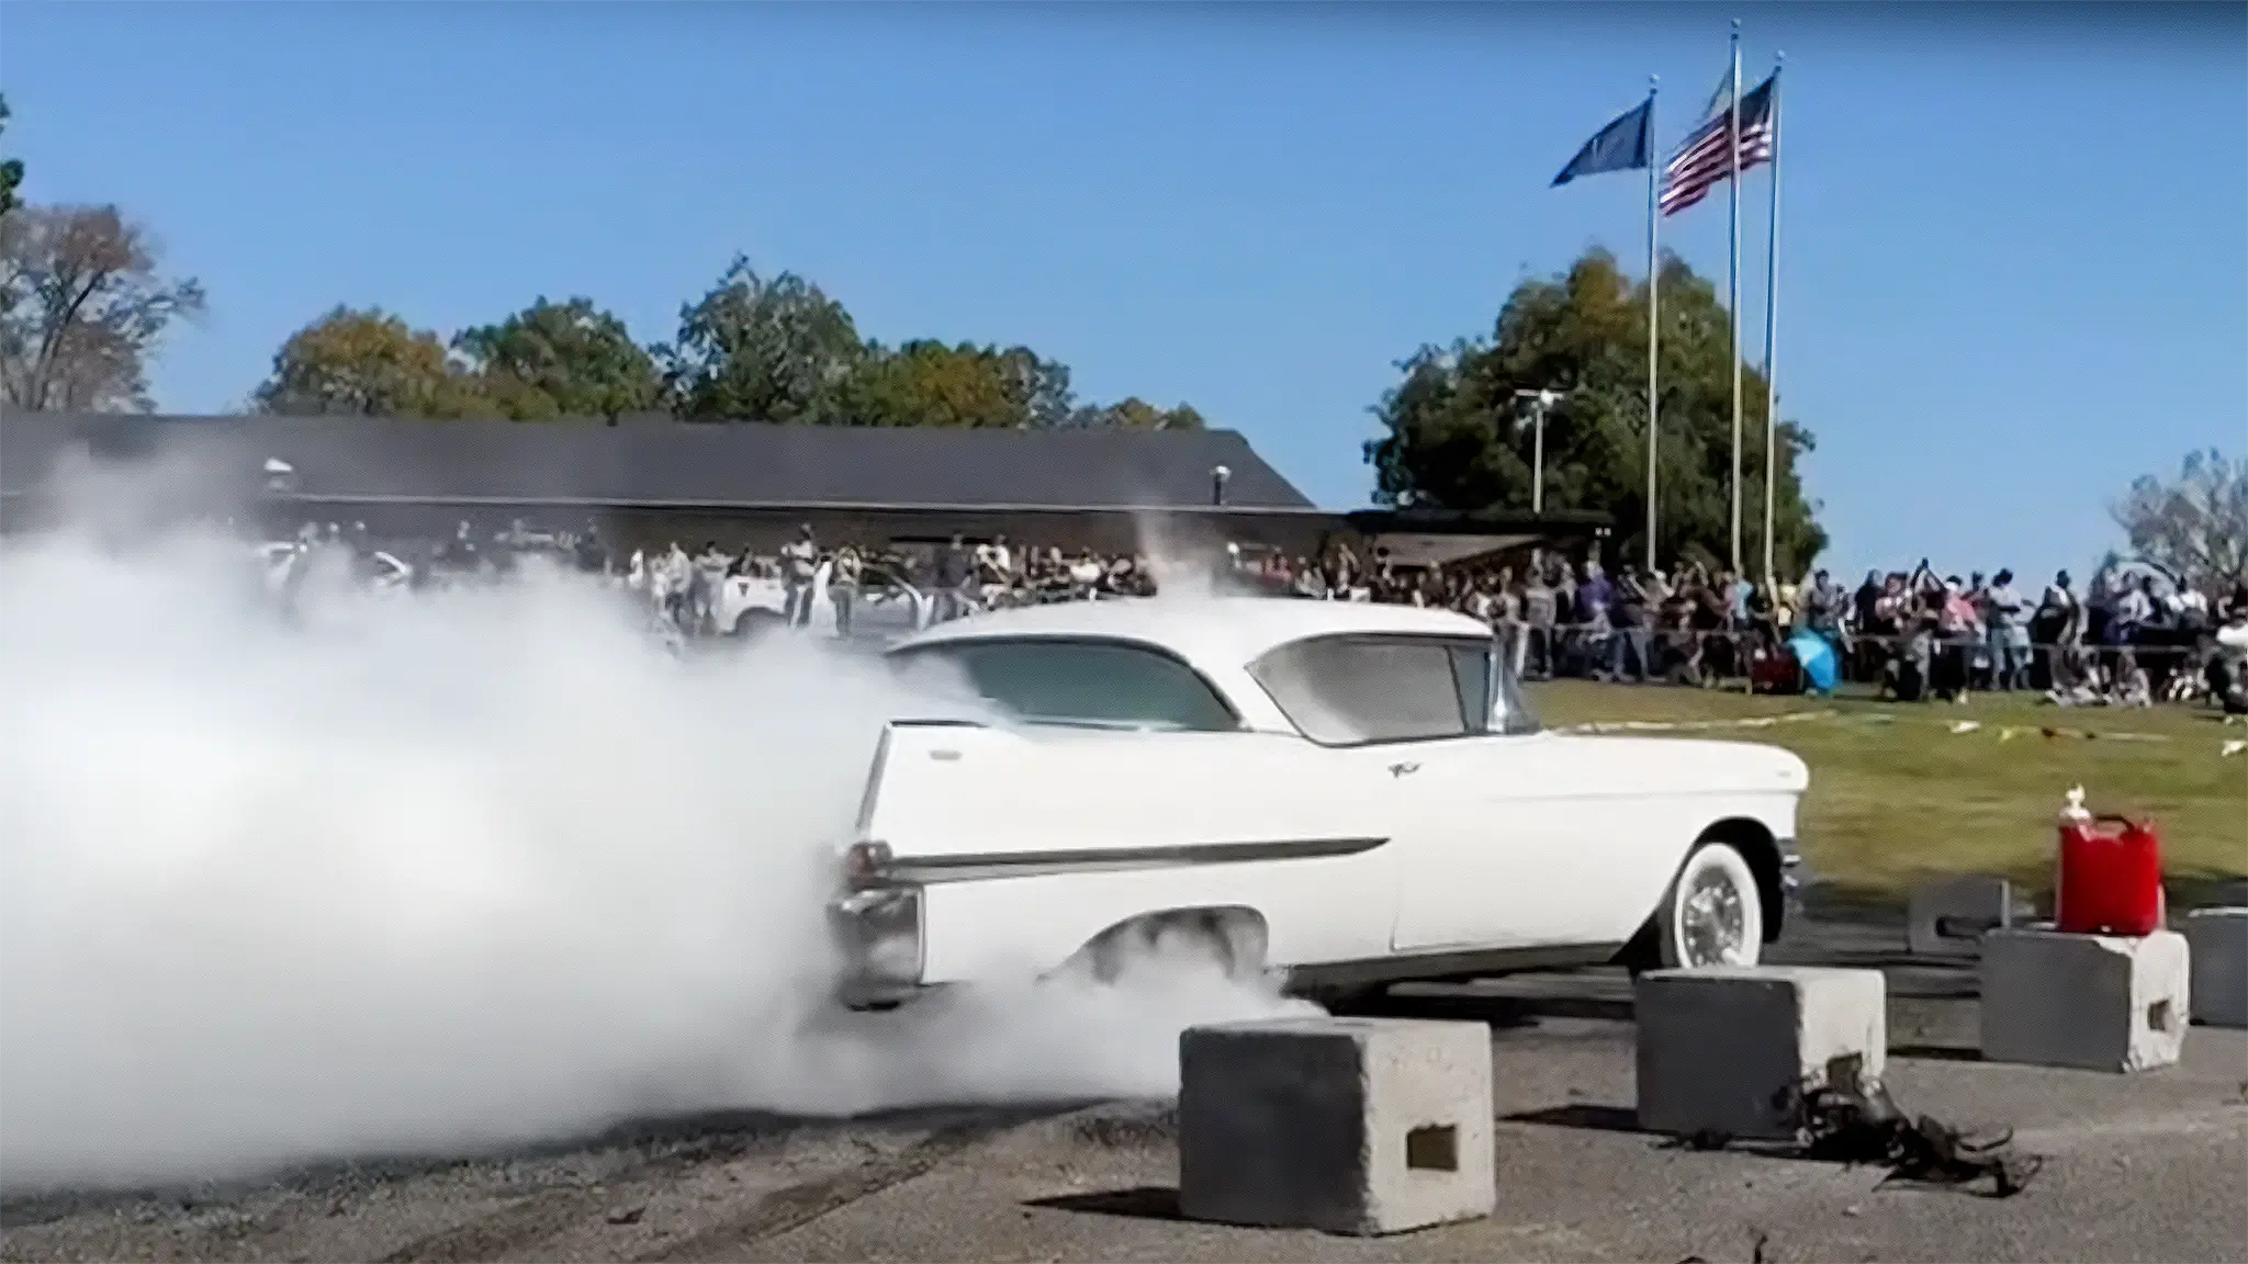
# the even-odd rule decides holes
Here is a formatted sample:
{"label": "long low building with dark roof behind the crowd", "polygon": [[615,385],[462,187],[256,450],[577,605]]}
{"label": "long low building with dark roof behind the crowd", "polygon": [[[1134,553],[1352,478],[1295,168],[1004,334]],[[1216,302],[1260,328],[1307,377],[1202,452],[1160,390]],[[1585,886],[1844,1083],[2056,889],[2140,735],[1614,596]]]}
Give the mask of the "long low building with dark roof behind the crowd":
{"label": "long low building with dark roof behind the crowd", "polygon": [[[870,544],[962,533],[1128,551],[1162,533],[1313,551],[1371,522],[1313,506],[1230,430],[0,414],[0,522],[52,520],[72,470],[139,470],[135,495],[153,513],[254,515],[274,533],[593,522],[614,542],[762,549],[809,522],[823,540]],[[1484,531],[1594,526],[1549,517]],[[1461,524],[1407,529],[1459,535]]]}

